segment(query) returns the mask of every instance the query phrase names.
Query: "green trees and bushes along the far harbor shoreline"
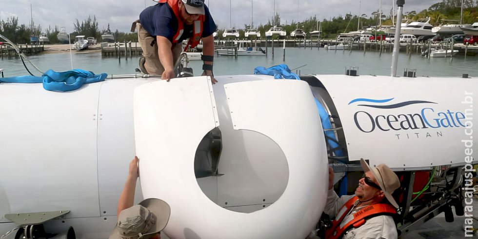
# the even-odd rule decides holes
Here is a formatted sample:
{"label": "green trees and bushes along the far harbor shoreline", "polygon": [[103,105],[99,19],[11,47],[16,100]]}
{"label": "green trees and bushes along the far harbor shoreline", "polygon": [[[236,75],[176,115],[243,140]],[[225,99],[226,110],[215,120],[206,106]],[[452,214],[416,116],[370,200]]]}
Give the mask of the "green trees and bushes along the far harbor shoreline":
{"label": "green trees and bushes along the far harbor shoreline", "polygon": [[[462,0],[442,0],[441,2],[435,3],[431,5],[428,9],[424,9],[418,13],[416,11],[405,12],[403,14],[403,19],[418,20],[423,18],[430,18],[430,24],[434,26],[446,23],[458,24],[461,17],[461,1]],[[292,20],[292,22],[285,22],[285,24],[283,24],[284,22],[280,20],[279,13],[276,13],[276,15],[270,20],[268,20],[266,24],[259,24],[259,26],[256,26],[256,28],[261,33],[260,39],[265,39],[264,33],[269,30],[269,28],[273,27],[272,22],[276,22],[276,25],[281,26],[282,29],[288,34],[298,28],[303,29],[306,33],[312,32],[316,30],[318,22],[320,22],[322,30],[320,38],[333,39],[340,33],[357,30],[356,26],[358,26],[359,20],[362,27],[376,26],[379,24],[380,21],[382,25],[392,25],[391,14],[387,16],[384,15],[383,12],[380,12],[380,10],[377,10],[375,12],[370,13],[370,15],[361,14],[360,16],[345,14],[345,16],[338,16],[329,20],[319,20],[317,16],[314,16],[309,17],[308,19],[300,22]],[[214,16],[214,12],[212,12],[212,14]],[[462,23],[472,24],[477,21],[478,0],[463,0]],[[61,26],[56,25],[54,28],[52,28],[49,25],[48,28],[42,29],[40,24],[36,26],[34,22],[32,23],[33,24],[31,24],[31,26],[20,24],[18,17],[10,17],[7,20],[1,20],[0,34],[17,44],[26,44],[30,43],[30,36],[40,36],[41,33],[44,33],[49,39],[50,44],[48,46],[60,43],[57,36],[60,32],[59,28]],[[88,16],[87,19],[81,22],[76,19],[76,22],[74,22],[74,31],[70,33],[71,41],[74,41],[76,36],[84,35],[86,37],[94,37],[98,40],[98,42],[100,42],[101,34],[103,34],[106,29],[100,30],[98,28],[98,25],[99,23],[96,20],[96,16],[93,16],[93,19],[91,18],[91,16]],[[250,25],[244,24],[244,29],[250,27]],[[244,36],[244,29],[238,29],[240,36]],[[218,30],[217,40],[224,40],[222,38],[222,33],[224,32],[224,30],[225,29]],[[117,42],[135,42],[138,40],[138,36],[136,33],[119,32],[119,30],[117,29],[115,32],[112,32],[112,34],[115,36]]]}

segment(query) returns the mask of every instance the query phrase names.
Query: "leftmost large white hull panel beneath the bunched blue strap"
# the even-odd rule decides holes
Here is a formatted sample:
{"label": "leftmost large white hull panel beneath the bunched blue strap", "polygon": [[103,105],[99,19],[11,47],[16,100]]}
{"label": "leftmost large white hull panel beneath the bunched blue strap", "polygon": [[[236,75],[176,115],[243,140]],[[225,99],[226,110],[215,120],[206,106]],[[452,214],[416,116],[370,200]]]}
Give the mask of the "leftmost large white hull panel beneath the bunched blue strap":
{"label": "leftmost large white hull panel beneath the bunched blue strap", "polygon": [[67,218],[100,216],[100,86],[60,93],[41,84],[0,85],[1,217],[59,210],[71,210]]}

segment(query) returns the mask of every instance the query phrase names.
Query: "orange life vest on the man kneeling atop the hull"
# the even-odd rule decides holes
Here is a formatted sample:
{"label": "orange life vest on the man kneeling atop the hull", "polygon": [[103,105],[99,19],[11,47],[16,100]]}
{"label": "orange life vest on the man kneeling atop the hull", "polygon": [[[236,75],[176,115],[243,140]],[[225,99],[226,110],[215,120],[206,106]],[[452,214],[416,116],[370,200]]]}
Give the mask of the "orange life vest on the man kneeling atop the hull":
{"label": "orange life vest on the man kneeling atop the hull", "polygon": [[[179,7],[178,7],[178,2],[179,0],[159,0],[159,3],[168,3],[168,5],[173,9],[174,15],[176,16],[176,19],[178,20],[178,30],[176,31],[176,34],[173,37],[173,44],[178,43],[179,39],[182,36],[182,33],[184,32],[184,23],[181,21],[179,18]],[[183,3],[184,4],[184,3]],[[202,26],[204,23],[204,15],[201,15],[198,20],[195,20],[193,23],[193,36],[189,38],[188,43],[186,44],[186,47],[184,48],[184,51],[186,51],[189,47],[194,48],[199,44],[199,41],[201,40],[202,36]]]}

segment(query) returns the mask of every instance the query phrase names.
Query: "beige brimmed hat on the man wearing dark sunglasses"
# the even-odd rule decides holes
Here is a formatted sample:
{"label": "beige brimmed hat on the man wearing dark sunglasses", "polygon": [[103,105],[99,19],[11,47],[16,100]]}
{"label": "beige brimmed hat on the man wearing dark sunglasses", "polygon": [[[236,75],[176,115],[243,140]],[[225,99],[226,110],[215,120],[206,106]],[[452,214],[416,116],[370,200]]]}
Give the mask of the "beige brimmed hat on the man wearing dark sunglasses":
{"label": "beige brimmed hat on the man wearing dark sunglasses", "polygon": [[383,163],[377,165],[377,167],[370,167],[365,160],[360,159],[360,165],[365,173],[368,171],[372,172],[385,197],[394,207],[398,208],[398,203],[392,197],[393,192],[400,187],[400,180],[397,174]]}

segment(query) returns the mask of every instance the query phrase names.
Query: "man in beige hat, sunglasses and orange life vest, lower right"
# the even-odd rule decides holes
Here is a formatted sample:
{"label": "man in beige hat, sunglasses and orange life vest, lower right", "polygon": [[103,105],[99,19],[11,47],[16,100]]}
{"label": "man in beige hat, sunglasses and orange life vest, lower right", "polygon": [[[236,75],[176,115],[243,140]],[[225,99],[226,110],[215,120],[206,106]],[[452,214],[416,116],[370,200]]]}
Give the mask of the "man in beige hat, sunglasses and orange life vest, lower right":
{"label": "man in beige hat, sunglasses and orange life vest, lower right", "polygon": [[396,239],[393,215],[398,204],[392,193],[400,187],[398,176],[385,164],[370,167],[360,159],[365,176],[359,180],[355,195],[338,197],[333,190],[334,170],[329,167],[329,192],[324,212],[335,216],[325,238]]}

